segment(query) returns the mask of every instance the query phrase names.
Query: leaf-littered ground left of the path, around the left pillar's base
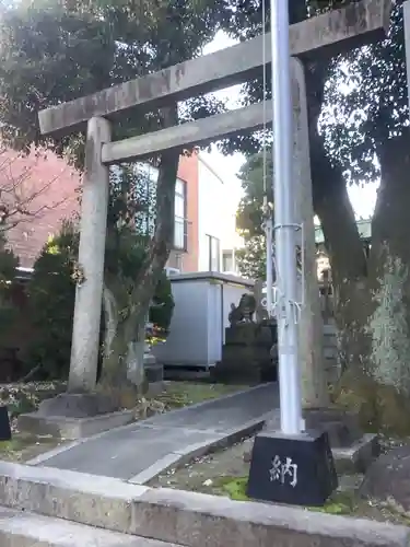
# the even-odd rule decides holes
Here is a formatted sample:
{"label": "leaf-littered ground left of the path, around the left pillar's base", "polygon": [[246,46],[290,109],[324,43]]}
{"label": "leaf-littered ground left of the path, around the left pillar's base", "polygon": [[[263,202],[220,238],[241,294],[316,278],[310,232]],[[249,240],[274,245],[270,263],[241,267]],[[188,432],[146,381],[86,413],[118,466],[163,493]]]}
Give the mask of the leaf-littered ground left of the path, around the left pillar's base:
{"label": "leaf-littered ground left of the path, around the left pillar's base", "polygon": [[[141,397],[136,405],[136,420],[144,419],[159,412],[185,407],[203,400],[222,397],[244,389],[246,386],[209,384],[204,382],[165,382],[163,393]],[[35,437],[19,431],[20,414],[32,412],[42,400],[66,389],[65,383],[33,382],[26,384],[0,385],[0,404],[7,405],[11,418],[12,440],[0,441],[0,459],[27,462],[70,441],[52,437]]]}

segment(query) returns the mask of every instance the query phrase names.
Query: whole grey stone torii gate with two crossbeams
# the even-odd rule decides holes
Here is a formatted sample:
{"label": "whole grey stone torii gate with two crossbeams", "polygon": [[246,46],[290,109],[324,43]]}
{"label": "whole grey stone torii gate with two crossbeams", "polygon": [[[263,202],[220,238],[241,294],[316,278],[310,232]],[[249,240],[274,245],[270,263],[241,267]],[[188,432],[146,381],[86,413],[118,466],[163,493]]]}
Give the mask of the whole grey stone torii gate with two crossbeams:
{"label": "whole grey stone torii gate with two crossbeams", "polygon": [[[318,54],[333,56],[375,39],[388,24],[390,4],[390,0],[362,0],[291,25],[292,56],[301,58],[315,58]],[[268,47],[271,37],[268,34],[39,113],[43,135],[63,136],[86,127],[79,248],[79,264],[84,279],[77,287],[75,294],[70,392],[92,392],[96,383],[109,165],[143,160],[167,149],[190,148],[239,132],[260,129],[263,126],[265,108],[260,103],[114,142],[112,124],[118,114],[142,105],[151,108],[161,107],[171,101],[183,101],[199,93],[208,93],[254,78],[262,69],[263,39],[267,45],[267,62],[271,62],[270,47]],[[295,154],[298,159],[298,162],[295,162],[298,163],[295,177],[302,184],[301,174],[304,173],[303,199],[306,200],[307,197],[311,203],[308,213],[303,214],[305,218],[301,221],[313,224],[306,141],[306,100],[302,96],[303,79],[302,65],[294,63],[296,97],[294,140]],[[267,121],[271,123],[271,104],[267,104],[266,112],[269,116]],[[306,249],[312,254],[312,241],[306,244]],[[313,257],[312,260],[314,261]],[[321,359],[319,362],[321,366]],[[314,362],[311,364],[315,366]]]}

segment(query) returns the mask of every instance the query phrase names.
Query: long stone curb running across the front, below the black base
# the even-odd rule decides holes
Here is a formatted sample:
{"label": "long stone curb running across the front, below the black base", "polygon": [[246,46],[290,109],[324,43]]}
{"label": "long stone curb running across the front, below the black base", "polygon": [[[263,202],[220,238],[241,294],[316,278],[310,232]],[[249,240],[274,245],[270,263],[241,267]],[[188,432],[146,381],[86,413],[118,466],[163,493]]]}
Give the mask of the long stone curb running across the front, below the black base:
{"label": "long stone curb running across the front, below the black base", "polygon": [[185,547],[409,547],[405,526],[0,462],[0,503]]}

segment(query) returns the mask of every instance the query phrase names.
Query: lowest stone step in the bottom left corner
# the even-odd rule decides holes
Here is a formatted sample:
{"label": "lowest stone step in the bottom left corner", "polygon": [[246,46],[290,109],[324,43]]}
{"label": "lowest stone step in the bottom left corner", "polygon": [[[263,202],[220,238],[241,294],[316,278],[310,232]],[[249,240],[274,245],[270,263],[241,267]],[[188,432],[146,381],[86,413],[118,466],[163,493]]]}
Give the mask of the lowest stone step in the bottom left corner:
{"label": "lowest stone step in the bottom left corner", "polygon": [[1,547],[177,547],[0,507]]}

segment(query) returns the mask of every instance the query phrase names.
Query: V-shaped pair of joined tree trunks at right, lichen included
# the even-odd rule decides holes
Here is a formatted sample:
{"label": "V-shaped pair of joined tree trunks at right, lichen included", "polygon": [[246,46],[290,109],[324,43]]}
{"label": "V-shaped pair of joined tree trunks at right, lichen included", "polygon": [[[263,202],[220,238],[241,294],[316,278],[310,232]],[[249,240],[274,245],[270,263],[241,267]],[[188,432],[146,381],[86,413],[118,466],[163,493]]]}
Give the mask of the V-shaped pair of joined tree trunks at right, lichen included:
{"label": "V-shaped pair of joined tree trunks at right, lichen included", "polygon": [[[382,183],[366,260],[344,185],[317,200],[330,253],[343,375],[337,400],[374,430],[410,424],[410,155],[407,132],[378,149]],[[335,191],[338,189],[338,191]],[[352,226],[353,224],[353,226]]]}

